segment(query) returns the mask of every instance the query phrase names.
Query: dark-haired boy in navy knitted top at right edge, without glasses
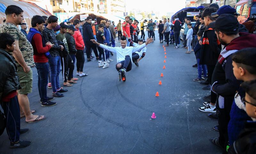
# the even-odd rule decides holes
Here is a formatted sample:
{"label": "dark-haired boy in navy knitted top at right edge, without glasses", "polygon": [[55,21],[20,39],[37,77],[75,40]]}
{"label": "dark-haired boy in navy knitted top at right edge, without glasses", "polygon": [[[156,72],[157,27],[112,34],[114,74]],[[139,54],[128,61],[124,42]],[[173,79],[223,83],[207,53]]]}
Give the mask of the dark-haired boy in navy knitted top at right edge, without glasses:
{"label": "dark-haired boy in navy knitted top at right edge, without glasses", "polygon": [[[238,80],[250,82],[256,80],[256,48],[244,48],[237,51],[232,57],[233,72]],[[255,85],[255,84],[254,84]],[[246,126],[245,122],[252,120],[247,114],[247,106],[244,104],[246,89],[239,88],[235,95],[235,101],[230,111],[230,121],[228,123],[228,141],[230,146],[238,138],[241,130]],[[245,112],[246,111],[246,112]]]}

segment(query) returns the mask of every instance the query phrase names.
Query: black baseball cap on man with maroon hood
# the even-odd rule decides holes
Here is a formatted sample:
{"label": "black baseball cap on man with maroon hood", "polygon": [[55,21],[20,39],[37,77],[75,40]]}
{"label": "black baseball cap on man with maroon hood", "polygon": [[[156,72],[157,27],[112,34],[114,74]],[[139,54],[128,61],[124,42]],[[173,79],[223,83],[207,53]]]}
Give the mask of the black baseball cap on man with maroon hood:
{"label": "black baseball cap on man with maroon hood", "polygon": [[216,28],[223,32],[238,31],[239,22],[232,14],[221,14],[216,21],[209,24],[210,28]]}

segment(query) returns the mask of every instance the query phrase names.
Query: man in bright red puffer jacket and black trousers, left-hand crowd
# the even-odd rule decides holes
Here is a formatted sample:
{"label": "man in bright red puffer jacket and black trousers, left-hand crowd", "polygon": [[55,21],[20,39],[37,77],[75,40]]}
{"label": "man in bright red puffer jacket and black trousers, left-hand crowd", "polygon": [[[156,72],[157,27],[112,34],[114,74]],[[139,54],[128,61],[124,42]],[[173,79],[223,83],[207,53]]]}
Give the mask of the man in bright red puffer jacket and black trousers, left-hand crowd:
{"label": "man in bright red puffer jacket and black trousers, left-hand crowd", "polygon": [[73,24],[77,31],[75,31],[73,37],[76,41],[76,75],[79,77],[87,76],[87,74],[83,73],[84,68],[84,40],[81,32],[79,31],[80,21],[79,19],[75,19]]}

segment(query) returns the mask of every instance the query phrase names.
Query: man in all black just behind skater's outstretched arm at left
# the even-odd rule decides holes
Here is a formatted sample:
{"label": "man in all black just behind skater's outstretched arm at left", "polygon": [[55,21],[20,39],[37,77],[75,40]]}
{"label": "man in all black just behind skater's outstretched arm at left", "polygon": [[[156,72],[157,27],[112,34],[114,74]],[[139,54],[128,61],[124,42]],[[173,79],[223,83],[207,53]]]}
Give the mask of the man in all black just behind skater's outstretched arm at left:
{"label": "man in all black just behind skater's outstretched arm at left", "polygon": [[87,17],[87,21],[83,25],[83,36],[84,36],[84,44],[86,47],[86,56],[87,56],[87,62],[90,60],[91,55],[91,48],[97,57],[98,51],[95,44],[92,43],[91,40],[94,40],[93,31],[92,31],[92,17]]}

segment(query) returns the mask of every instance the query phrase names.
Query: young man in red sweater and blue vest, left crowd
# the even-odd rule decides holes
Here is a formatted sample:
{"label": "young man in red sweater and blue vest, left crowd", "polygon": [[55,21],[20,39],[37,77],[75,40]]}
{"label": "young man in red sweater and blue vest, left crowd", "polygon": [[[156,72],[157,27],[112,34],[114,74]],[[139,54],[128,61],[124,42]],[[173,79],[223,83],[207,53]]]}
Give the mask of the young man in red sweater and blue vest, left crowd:
{"label": "young man in red sweater and blue vest, left crowd", "polygon": [[[38,73],[38,91],[40,96],[41,106],[54,106],[57,103],[51,102],[50,100],[54,97],[47,97],[47,84],[48,84],[48,74],[49,74],[49,62],[46,57],[48,51],[52,48],[53,44],[51,42],[45,43],[41,32],[44,29],[45,20],[41,16],[34,16],[31,19],[31,26],[33,28],[29,29],[28,40],[34,50],[34,61],[36,64],[36,69]],[[50,54],[48,53],[48,56]],[[39,120],[42,118],[39,118]]]}

